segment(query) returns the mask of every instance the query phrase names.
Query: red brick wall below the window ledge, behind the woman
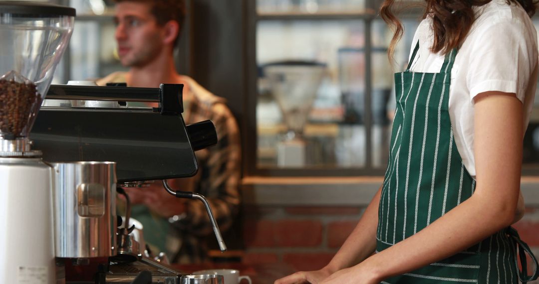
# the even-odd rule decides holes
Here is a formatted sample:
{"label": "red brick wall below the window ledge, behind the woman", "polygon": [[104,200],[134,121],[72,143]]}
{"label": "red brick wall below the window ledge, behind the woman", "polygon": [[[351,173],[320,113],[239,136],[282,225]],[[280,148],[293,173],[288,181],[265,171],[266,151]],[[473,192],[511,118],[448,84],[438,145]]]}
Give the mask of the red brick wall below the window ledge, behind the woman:
{"label": "red brick wall below the window ledge, behind the woman", "polygon": [[[329,262],[354,229],[363,209],[245,205],[243,261],[286,262],[302,271],[319,269]],[[514,227],[539,257],[539,207],[528,208]]]}

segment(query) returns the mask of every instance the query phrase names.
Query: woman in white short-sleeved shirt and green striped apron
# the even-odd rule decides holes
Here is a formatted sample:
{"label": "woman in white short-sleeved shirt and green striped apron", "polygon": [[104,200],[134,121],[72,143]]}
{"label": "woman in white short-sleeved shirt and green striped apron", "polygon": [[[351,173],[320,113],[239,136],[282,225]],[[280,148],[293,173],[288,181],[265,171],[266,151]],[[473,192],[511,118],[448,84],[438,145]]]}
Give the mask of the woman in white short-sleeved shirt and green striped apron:
{"label": "woman in white short-sleeved shirt and green striped apron", "polygon": [[[391,47],[402,33],[393,2],[386,0],[381,12],[398,27]],[[522,138],[537,81],[535,6],[531,0],[426,2],[409,65],[395,75],[397,107],[381,188],[326,267],[275,283],[537,278],[537,260],[510,227],[523,204]],[[526,252],[535,262],[530,273]]]}

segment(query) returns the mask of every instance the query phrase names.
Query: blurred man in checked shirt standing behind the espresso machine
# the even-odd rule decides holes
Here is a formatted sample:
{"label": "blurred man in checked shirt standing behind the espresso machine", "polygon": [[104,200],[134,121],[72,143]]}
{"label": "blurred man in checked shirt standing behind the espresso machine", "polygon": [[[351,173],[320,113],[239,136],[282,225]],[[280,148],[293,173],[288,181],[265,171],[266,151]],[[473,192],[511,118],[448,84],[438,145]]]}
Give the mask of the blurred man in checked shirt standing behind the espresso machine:
{"label": "blurred man in checked shirt standing behind the espresso machine", "polygon": [[[236,120],[225,100],[188,76],[178,74],[173,52],[185,18],[183,0],[116,0],[115,38],[118,55],[128,72],[98,80],[125,82],[129,87],[158,88],[161,83],[184,84],[186,124],[211,119],[218,144],[196,152],[199,170],[189,179],[169,180],[175,190],[208,197],[219,228],[230,227],[239,205],[240,138]],[[151,133],[148,133],[151,134]],[[159,159],[159,157],[156,157]],[[126,188],[132,217],[144,226],[144,239],[167,252],[172,262],[193,263],[207,257],[203,237],[213,233],[202,202],[168,194],[161,182],[149,188]]]}

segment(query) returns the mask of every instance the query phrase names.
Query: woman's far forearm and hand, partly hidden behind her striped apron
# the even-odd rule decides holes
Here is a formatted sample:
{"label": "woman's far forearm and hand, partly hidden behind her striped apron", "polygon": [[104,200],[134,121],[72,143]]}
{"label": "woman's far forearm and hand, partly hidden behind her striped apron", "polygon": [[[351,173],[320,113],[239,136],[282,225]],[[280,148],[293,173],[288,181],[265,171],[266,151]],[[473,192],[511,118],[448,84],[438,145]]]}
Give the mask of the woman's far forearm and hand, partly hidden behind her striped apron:
{"label": "woman's far forearm and hand, partly hidden behind her striped apron", "polygon": [[296,272],[275,281],[275,284],[319,283],[330,274],[358,264],[374,253],[376,248],[376,230],[378,227],[378,203],[382,187],[365,209],[354,231],[346,239],[340,250],[324,268],[318,271]]}

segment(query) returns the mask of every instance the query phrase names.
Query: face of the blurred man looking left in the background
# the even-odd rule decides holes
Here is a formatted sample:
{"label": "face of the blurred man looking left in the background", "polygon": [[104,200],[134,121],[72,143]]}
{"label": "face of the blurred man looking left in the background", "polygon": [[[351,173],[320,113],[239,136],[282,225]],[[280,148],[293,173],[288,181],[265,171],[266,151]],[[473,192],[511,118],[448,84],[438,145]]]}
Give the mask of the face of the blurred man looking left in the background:
{"label": "face of the blurred man looking left in the background", "polygon": [[163,28],[157,25],[150,6],[140,2],[116,4],[116,41],[123,66],[142,67],[163,48]]}

